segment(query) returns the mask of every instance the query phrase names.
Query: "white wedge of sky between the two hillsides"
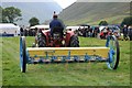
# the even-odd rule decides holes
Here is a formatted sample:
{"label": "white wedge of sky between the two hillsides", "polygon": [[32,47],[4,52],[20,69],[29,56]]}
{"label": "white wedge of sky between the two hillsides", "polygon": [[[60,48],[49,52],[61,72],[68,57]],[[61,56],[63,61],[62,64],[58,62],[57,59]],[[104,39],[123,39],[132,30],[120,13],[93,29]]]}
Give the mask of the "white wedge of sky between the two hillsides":
{"label": "white wedge of sky between the two hillsides", "polygon": [[63,9],[65,9],[72,3],[74,3],[76,0],[54,0],[54,1],[56,1]]}

